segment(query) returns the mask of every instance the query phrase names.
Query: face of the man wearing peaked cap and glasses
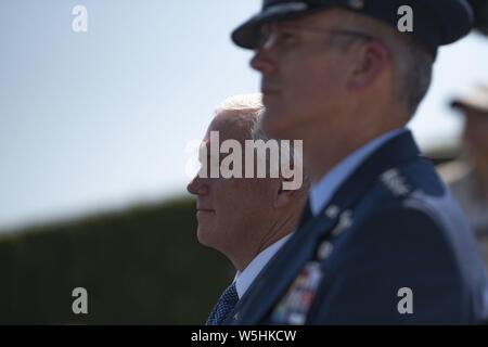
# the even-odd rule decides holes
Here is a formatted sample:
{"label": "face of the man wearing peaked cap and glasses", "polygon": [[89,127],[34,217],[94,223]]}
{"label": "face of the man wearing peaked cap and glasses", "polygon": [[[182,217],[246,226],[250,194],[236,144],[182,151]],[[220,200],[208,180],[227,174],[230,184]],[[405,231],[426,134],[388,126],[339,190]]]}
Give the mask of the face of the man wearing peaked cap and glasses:
{"label": "face of the man wearing peaked cap and glasses", "polygon": [[273,137],[293,138],[316,121],[332,129],[345,99],[347,60],[331,49],[328,31],[301,31],[300,27],[341,28],[335,11],[279,22],[262,28],[262,42],[252,66],[262,75],[265,129]]}

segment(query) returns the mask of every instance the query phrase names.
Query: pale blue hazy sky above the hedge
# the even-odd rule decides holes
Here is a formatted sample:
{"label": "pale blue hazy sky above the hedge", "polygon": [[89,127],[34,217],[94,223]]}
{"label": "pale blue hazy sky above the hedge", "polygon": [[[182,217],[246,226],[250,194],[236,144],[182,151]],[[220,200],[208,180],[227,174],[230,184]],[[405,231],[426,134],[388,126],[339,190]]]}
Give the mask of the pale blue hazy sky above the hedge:
{"label": "pale blue hazy sky above the hedge", "polygon": [[[72,9],[88,9],[88,33]],[[0,1],[0,229],[184,192],[185,145],[224,98],[259,89],[229,34],[260,0]],[[488,39],[442,49],[412,128],[452,142],[445,104],[488,81]]]}

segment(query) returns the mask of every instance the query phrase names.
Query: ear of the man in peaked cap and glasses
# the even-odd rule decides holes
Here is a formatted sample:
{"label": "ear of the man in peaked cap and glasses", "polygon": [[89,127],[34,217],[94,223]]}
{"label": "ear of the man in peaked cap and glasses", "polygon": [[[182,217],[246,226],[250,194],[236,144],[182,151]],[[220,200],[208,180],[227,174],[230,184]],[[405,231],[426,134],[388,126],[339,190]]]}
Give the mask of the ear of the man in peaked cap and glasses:
{"label": "ear of the man in peaked cap and glasses", "polygon": [[372,41],[362,44],[356,56],[347,81],[352,91],[371,86],[382,75],[387,67],[389,52],[382,42]]}

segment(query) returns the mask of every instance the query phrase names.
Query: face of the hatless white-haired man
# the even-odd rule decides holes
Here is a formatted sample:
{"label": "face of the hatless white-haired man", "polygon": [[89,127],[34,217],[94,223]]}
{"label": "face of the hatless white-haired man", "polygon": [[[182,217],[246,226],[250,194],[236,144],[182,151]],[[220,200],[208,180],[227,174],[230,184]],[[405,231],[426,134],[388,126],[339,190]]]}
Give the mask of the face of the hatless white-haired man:
{"label": "face of the hatless white-haired man", "polygon": [[[219,131],[220,142],[234,139],[243,143],[245,130],[235,114],[218,115],[208,127],[203,145],[210,154],[210,131]],[[240,247],[256,242],[253,233],[269,222],[273,192],[279,184],[277,179],[195,177],[188,191],[197,196],[198,241],[223,254],[239,253]]]}

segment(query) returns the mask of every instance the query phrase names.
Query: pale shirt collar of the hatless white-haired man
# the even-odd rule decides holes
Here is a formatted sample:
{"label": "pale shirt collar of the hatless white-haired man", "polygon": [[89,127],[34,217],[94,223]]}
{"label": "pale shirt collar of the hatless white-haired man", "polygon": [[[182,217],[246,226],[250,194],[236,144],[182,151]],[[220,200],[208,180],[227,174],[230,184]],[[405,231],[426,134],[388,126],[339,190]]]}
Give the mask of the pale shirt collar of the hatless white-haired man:
{"label": "pale shirt collar of the hatless white-haired man", "polygon": [[234,281],[235,290],[237,291],[240,299],[247,292],[247,288],[253,283],[254,279],[256,279],[262,268],[268,264],[269,260],[271,260],[274,254],[285,244],[285,242],[288,241],[292,234],[293,233],[290,233],[286,236],[278,240],[271,246],[259,253],[242,272],[237,271]]}

